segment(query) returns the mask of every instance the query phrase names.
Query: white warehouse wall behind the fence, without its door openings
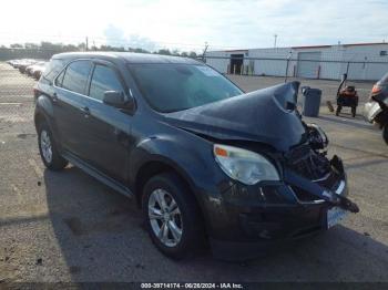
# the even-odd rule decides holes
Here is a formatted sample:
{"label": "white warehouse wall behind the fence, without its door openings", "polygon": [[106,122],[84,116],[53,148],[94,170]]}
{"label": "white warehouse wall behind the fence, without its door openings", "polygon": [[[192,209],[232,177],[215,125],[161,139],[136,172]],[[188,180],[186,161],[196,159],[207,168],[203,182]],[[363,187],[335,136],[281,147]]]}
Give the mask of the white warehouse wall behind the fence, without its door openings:
{"label": "white warehouse wall behind the fence, without its door openings", "polygon": [[[350,63],[348,79],[349,80],[379,80],[386,72],[388,72],[388,55],[380,56],[380,51],[388,52],[387,44],[370,44],[370,45],[331,45],[331,46],[317,46],[305,49],[290,49],[290,48],[277,48],[277,49],[253,49],[247,51],[210,51],[206,56],[224,56],[225,59],[207,59],[206,63],[215,68],[222,73],[227,73],[227,66],[231,63],[229,56],[235,53],[244,53],[245,58],[255,58],[254,60],[254,74],[256,75],[274,75],[285,76],[286,73],[286,59],[292,52],[292,59],[288,65],[288,75],[293,75],[294,70],[297,72],[297,59],[299,52],[321,52],[320,58],[320,79],[340,80],[343,73],[347,70],[347,63],[351,61],[359,61],[363,63]],[[265,60],[265,59],[283,59],[283,60]],[[339,63],[335,61],[341,61]],[[367,62],[384,62],[368,64]],[[249,64],[249,60],[244,59],[244,66]]]}

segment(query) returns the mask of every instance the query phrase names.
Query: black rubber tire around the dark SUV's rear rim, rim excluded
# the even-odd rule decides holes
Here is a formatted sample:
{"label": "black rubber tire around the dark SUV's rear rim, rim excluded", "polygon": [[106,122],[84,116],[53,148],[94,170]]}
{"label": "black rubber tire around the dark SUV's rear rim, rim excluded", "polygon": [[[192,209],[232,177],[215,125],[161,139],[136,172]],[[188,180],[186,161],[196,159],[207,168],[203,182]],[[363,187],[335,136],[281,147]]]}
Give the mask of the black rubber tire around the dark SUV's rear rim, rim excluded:
{"label": "black rubber tire around the dark SUV's rear rim, rim excluded", "polygon": [[[47,134],[47,137],[50,139],[51,144],[51,158],[48,158],[43,154],[43,143],[42,143],[42,135]],[[45,167],[48,167],[51,170],[62,170],[67,165],[68,160],[64,159],[58,152],[55,141],[52,136],[51,130],[49,125],[45,122],[42,122],[38,126],[38,147],[39,147],[39,153],[42,158],[42,162]]]}

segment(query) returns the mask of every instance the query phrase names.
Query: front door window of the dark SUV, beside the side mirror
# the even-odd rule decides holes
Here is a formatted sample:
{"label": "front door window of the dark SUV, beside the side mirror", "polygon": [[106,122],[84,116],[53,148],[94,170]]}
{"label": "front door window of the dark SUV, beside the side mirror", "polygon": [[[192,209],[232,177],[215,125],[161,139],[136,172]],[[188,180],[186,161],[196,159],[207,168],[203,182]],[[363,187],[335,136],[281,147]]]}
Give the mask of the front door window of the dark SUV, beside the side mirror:
{"label": "front door window of the dark SUV, beside the side mirror", "polygon": [[106,91],[122,92],[124,90],[118,75],[111,68],[98,64],[93,72],[89,95],[90,97],[102,101]]}

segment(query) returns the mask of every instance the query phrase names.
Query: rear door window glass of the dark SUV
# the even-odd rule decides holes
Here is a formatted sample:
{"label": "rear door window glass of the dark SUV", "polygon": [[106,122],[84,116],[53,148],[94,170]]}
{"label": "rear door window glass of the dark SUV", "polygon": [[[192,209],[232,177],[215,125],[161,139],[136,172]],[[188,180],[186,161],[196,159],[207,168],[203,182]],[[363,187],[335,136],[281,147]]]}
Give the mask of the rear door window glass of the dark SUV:
{"label": "rear door window glass of the dark SUV", "polygon": [[90,69],[90,61],[72,62],[63,75],[62,87],[79,94],[85,93]]}

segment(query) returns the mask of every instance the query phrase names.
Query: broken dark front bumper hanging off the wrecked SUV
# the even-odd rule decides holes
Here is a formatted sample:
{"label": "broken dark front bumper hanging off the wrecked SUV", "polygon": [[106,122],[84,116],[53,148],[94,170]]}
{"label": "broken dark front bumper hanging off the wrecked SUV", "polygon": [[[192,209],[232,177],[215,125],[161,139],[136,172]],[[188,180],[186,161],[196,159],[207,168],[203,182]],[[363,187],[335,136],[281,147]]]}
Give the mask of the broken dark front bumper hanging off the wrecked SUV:
{"label": "broken dark front bumper hanging off the wrecked SUV", "polygon": [[335,156],[330,166],[328,175],[314,182],[285,169],[278,184],[234,184],[222,194],[217,210],[211,211],[214,256],[253,259],[279,244],[327,229],[344,211],[357,213],[357,205],[347,198],[341,160]]}

